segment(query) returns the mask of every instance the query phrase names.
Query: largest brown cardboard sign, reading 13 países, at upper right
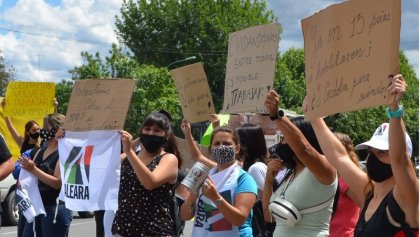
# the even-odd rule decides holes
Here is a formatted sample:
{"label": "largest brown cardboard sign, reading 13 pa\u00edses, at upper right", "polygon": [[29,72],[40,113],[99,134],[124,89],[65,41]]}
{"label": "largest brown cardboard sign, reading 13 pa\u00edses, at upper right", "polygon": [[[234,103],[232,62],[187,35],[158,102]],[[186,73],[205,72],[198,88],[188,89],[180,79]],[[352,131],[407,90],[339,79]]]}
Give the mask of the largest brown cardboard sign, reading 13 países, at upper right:
{"label": "largest brown cardboard sign, reading 13 pa\u00edses, at upper right", "polygon": [[400,0],[346,1],[302,20],[311,119],[386,104],[399,71]]}

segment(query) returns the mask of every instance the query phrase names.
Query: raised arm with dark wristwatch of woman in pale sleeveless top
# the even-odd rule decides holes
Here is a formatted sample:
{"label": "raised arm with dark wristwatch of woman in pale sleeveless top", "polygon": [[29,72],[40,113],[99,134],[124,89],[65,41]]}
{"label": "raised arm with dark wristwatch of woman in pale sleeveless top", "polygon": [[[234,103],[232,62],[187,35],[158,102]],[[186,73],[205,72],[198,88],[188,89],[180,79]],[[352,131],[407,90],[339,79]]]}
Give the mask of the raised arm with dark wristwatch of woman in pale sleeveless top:
{"label": "raised arm with dark wristwatch of woman in pale sleeveless top", "polygon": [[[270,116],[277,115],[279,100],[279,95],[274,90],[271,90],[267,95],[264,105],[270,113]],[[292,148],[299,161],[311,171],[320,183],[329,185],[334,182],[336,178],[336,170],[334,167],[323,155],[319,154],[318,151],[311,146],[302,132],[287,118],[287,116],[274,120],[274,123],[276,124],[276,127],[282,131],[285,140],[290,148]]]}

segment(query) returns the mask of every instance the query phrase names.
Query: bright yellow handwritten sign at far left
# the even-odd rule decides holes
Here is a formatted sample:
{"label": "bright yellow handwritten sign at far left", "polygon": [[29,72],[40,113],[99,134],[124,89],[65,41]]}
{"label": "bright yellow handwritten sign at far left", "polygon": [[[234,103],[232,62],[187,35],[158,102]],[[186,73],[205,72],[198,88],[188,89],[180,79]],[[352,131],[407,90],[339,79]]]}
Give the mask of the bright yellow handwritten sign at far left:
{"label": "bright yellow handwritten sign at far left", "polygon": [[4,116],[32,118],[54,112],[54,82],[10,82]]}

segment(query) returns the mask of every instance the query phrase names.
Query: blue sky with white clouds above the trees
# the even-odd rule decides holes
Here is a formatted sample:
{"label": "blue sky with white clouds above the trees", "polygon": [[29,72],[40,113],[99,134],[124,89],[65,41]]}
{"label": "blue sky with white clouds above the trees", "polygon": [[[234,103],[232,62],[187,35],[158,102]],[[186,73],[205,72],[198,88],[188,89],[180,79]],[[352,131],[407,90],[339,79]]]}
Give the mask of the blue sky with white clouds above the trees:
{"label": "blue sky with white clouds above the trees", "polygon": [[[268,0],[282,25],[280,53],[303,48],[300,20],[338,0]],[[122,0],[0,0],[0,50],[19,81],[69,80],[80,53],[108,55]],[[419,1],[402,0],[400,48],[419,75]]]}

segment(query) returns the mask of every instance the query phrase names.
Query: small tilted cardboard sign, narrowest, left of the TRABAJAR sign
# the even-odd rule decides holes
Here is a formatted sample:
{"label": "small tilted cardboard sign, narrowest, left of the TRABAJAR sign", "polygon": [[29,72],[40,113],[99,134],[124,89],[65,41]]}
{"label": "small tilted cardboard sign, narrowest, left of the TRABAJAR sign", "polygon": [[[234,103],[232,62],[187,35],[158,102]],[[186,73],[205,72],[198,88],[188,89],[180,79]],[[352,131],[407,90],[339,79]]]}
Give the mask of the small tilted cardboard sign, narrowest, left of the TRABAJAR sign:
{"label": "small tilted cardboard sign, narrowest, left of the TRABAJAR sign", "polygon": [[191,123],[206,121],[214,114],[214,104],[202,63],[171,70],[178,90],[182,113]]}

